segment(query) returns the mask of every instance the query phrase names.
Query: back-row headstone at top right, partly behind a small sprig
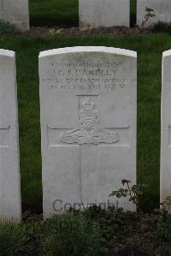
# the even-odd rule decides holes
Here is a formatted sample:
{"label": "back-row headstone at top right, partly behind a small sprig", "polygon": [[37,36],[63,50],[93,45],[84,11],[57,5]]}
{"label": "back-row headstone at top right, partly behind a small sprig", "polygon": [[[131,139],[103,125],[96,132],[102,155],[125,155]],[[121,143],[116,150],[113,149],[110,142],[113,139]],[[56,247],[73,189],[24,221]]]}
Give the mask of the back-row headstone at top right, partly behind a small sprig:
{"label": "back-row headstone at top right, partly behind a small sprig", "polygon": [[155,17],[150,17],[150,19],[144,23],[144,27],[150,27],[157,21],[171,21],[171,1],[170,0],[137,0],[137,24],[142,25],[142,21],[145,20],[144,15],[147,14],[145,9],[153,9]]}

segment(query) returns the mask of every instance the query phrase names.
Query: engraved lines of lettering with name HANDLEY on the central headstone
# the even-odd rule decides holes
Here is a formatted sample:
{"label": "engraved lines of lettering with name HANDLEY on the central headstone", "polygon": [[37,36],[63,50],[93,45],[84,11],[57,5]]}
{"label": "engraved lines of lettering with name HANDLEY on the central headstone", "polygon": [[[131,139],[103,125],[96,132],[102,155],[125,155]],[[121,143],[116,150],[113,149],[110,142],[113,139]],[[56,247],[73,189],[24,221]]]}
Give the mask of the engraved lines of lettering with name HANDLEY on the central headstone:
{"label": "engraved lines of lettering with name HANDLEY on the central headstone", "polygon": [[50,63],[48,75],[43,77],[50,90],[123,89],[134,80],[124,78],[127,62],[114,63]]}

